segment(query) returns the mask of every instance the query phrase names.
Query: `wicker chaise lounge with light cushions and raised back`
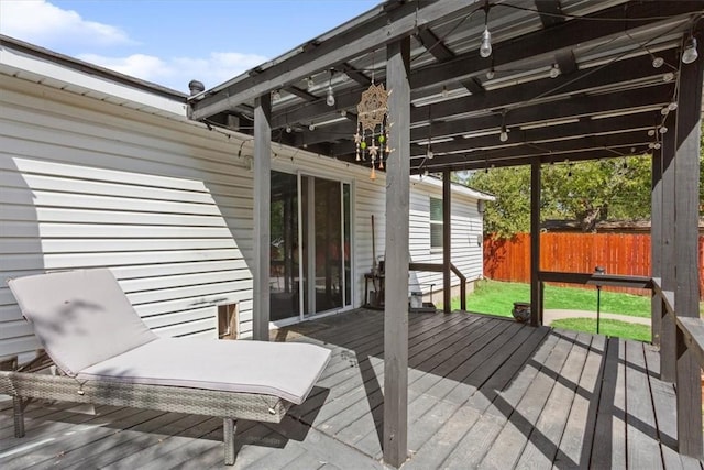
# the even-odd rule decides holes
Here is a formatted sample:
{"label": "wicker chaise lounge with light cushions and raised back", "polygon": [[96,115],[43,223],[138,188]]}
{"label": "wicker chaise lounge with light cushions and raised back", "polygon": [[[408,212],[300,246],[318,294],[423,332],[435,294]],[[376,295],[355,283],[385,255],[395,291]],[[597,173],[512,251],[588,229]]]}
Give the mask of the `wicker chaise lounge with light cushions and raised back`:
{"label": "wicker chaise lounge with light cushions and raised back", "polygon": [[8,281],[59,374],[0,371],[24,436],[29,400],[222,417],[224,462],[234,463],[237,419],[279,423],[302,403],[330,358],[314,345],[160,338],[107,269]]}

